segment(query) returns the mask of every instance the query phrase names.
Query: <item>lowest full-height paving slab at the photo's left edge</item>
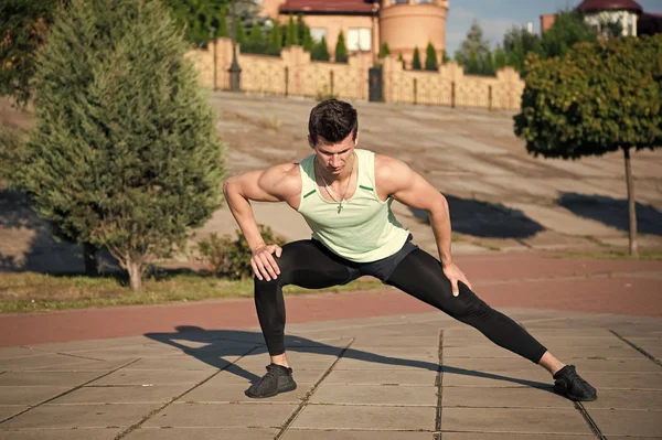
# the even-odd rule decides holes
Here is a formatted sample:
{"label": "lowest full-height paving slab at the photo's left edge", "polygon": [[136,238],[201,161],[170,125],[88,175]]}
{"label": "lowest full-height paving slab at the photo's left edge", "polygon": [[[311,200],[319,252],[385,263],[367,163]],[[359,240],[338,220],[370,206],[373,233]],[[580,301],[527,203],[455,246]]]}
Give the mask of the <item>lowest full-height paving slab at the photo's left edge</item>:
{"label": "lowest full-height paving slab at the photo's left edge", "polygon": [[2,425],[2,428],[128,427],[158,405],[42,405]]}

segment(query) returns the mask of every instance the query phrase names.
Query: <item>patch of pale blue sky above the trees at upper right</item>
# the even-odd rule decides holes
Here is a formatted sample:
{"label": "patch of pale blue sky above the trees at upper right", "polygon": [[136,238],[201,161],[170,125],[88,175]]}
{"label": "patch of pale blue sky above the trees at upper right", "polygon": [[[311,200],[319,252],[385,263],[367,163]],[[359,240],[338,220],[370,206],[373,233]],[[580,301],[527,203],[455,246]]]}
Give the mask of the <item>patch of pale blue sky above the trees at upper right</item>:
{"label": "patch of pale blue sky above the trees at upper right", "polygon": [[[446,18],[446,50],[452,56],[466,39],[476,19],[483,29],[485,40],[492,47],[503,40],[512,25],[533,23],[533,32],[540,34],[541,15],[559,9],[573,9],[580,0],[450,0]],[[662,0],[637,0],[644,12],[662,13]]]}

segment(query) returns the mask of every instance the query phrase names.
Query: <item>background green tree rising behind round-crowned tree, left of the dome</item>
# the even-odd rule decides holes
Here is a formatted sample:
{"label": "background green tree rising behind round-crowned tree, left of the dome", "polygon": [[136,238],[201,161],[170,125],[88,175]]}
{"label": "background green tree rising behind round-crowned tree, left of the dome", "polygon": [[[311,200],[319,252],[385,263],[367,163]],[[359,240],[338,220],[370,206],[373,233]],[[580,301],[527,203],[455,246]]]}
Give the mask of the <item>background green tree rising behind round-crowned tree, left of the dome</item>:
{"label": "background green tree rising behind round-crowned tree, left of the dome", "polygon": [[573,45],[596,42],[597,39],[596,31],[584,21],[581,13],[560,11],[556,14],[552,28],[543,33],[541,55],[543,58],[564,56]]}

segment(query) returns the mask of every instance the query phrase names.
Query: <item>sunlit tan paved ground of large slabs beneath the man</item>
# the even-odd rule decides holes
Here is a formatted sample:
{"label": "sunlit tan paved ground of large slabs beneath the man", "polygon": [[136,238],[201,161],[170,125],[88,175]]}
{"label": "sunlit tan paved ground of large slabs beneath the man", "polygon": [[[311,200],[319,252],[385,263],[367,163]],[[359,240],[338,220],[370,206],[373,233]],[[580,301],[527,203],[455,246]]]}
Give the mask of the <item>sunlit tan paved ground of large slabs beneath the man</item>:
{"label": "sunlit tan paved ground of large slabs beneath the man", "polygon": [[660,319],[505,311],[599,399],[556,396],[542,368],[430,313],[289,325],[299,388],[250,400],[257,330],[189,329],[0,348],[0,439],[662,437]]}

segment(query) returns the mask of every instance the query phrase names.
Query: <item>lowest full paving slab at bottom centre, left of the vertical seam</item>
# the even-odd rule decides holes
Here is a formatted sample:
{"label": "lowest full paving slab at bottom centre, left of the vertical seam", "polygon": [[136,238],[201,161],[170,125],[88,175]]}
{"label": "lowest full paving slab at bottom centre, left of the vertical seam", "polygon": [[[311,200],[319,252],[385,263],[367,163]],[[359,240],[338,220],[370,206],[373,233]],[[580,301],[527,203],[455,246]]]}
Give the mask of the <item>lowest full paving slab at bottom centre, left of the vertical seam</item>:
{"label": "lowest full paving slab at bottom centre, left of the vertical seam", "polygon": [[420,430],[435,428],[435,407],[309,405],[291,425],[303,429]]}

